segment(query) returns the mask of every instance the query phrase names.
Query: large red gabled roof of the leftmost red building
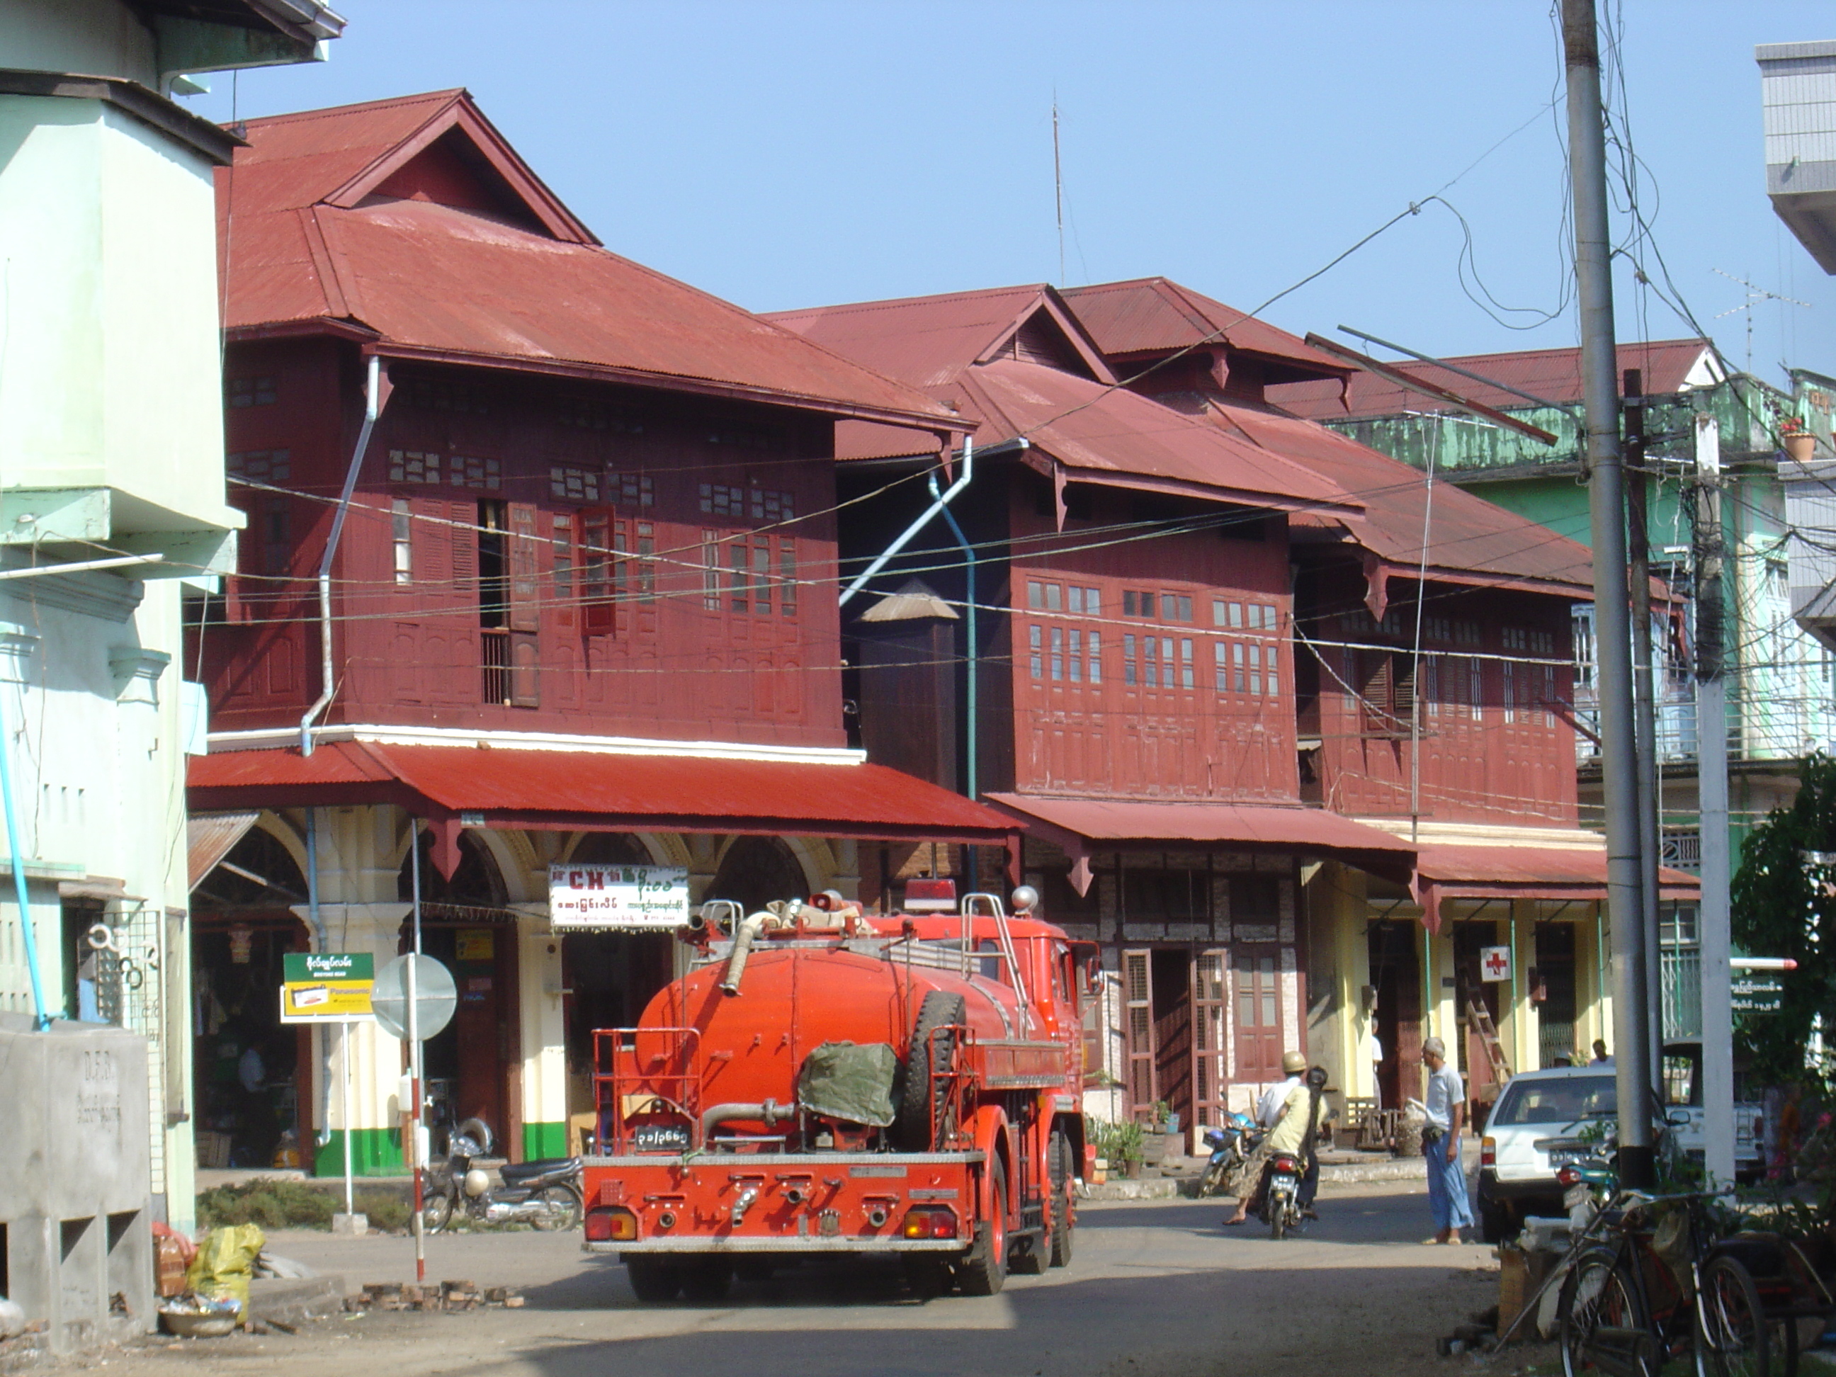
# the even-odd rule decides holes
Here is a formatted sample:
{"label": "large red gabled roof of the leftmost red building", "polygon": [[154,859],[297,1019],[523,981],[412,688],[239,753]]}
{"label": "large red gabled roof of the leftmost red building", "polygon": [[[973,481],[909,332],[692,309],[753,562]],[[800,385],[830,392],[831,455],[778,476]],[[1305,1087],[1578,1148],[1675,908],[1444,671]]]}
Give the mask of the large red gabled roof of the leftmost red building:
{"label": "large red gabled roof of the leftmost red building", "polygon": [[233,332],[960,428],[912,387],[599,248],[463,90],[252,119],[218,169]]}

